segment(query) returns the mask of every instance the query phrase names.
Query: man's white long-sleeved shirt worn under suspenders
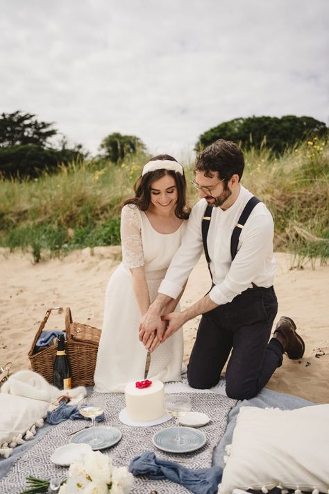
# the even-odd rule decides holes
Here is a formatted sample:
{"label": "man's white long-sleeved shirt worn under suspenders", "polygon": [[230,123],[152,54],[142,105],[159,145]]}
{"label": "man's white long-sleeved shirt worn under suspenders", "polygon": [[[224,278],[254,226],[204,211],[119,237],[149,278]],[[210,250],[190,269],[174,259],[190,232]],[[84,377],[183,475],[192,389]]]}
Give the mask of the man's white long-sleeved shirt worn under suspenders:
{"label": "man's white long-sleeved shirt worn under suspenders", "polygon": [[[248,217],[239,237],[237,255],[232,261],[230,239],[233,229],[253,195],[240,186],[239,196],[226,211],[214,207],[208,231],[208,252],[214,287],[210,299],[215,304],[227,304],[251,288],[251,283],[268,288],[273,285],[276,262],[273,257],[273,218],[263,203],[258,203]],[[187,231],[174,255],[165,279],[158,291],[178,297],[189,273],[203,252],[201,223],[207,201],[201,199],[192,208]]]}

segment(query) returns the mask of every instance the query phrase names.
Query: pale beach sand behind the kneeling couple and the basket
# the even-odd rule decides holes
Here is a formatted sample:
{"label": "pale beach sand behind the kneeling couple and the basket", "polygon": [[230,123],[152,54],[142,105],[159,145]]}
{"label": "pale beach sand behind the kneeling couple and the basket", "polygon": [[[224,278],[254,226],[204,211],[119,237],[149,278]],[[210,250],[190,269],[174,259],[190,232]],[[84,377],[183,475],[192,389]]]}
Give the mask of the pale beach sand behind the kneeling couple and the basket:
{"label": "pale beach sand behind the kneeling couple and the basket", "polygon": [[[12,372],[29,368],[28,350],[47,308],[71,308],[77,322],[101,328],[108,279],[120,260],[120,247],[96,247],[33,264],[29,253],[0,249],[0,366],[12,361]],[[292,269],[294,258],[276,253],[276,294],[280,315],[294,319],[305,340],[300,361],[284,357],[267,387],[312,402],[329,403],[329,265],[306,263]],[[183,295],[183,308],[210,287],[202,256]],[[275,321],[275,323],[276,323]],[[198,318],[184,327],[185,362],[194,343]],[[63,313],[53,312],[45,329],[64,329]]]}

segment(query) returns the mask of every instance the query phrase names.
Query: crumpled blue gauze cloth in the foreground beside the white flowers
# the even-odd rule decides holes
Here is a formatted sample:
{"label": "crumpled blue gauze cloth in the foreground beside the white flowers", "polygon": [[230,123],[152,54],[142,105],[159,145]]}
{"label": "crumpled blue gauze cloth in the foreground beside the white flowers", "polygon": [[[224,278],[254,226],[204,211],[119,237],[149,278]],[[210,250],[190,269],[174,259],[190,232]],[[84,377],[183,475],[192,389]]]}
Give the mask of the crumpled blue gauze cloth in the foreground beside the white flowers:
{"label": "crumpled blue gauze cloth in the foreground beside the white flowers", "polygon": [[151,451],[135,456],[129,465],[133,475],[146,475],[152,480],[169,479],[182,484],[195,494],[215,494],[223,469],[218,466],[191,470],[174,461],[159,459]]}

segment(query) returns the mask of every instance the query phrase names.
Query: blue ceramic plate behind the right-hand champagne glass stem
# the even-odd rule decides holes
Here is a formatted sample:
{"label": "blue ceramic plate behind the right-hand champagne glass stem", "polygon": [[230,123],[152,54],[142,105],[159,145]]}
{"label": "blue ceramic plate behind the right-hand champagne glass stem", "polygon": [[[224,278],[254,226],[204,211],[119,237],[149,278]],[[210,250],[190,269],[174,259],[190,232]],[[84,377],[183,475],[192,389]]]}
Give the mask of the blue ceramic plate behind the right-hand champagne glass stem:
{"label": "blue ceramic plate behind the right-hand champagne glass stem", "polygon": [[199,450],[199,447],[205,445],[207,438],[199,429],[192,427],[180,427],[180,438],[182,443],[177,443],[177,427],[168,427],[154,434],[152,441],[159,450],[168,453],[189,453]]}

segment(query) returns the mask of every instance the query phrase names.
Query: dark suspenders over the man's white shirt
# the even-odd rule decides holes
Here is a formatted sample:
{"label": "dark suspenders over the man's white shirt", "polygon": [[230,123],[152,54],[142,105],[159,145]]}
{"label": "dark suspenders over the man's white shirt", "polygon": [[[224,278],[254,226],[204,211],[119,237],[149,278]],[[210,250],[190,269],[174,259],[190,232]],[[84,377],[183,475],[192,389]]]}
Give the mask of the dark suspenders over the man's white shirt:
{"label": "dark suspenders over the man's white shirt", "polygon": [[[244,227],[244,224],[246,224],[246,220],[248,220],[248,217],[251,214],[251,211],[253,211],[253,208],[259,202],[260,202],[260,199],[258,199],[255,196],[251,197],[251,199],[248,200],[246,206],[244,206],[244,210],[242,211],[237,224],[235,225],[235,228],[233,229],[232,236],[230,238],[230,255],[232,256],[232,261],[235,258],[235,256],[237,255],[237,246],[239,244],[239,236],[240,236],[240,233]],[[208,269],[210,272],[211,279],[212,279],[212,273],[210,271],[210,256],[209,256],[209,252],[208,252],[207,237],[208,237],[208,230],[209,230],[209,226],[210,226],[212,209],[213,209],[212,206],[207,206],[207,208],[205,209],[205,214],[203,215],[202,224],[201,224],[203,249],[205,251],[205,259],[208,263]]]}

